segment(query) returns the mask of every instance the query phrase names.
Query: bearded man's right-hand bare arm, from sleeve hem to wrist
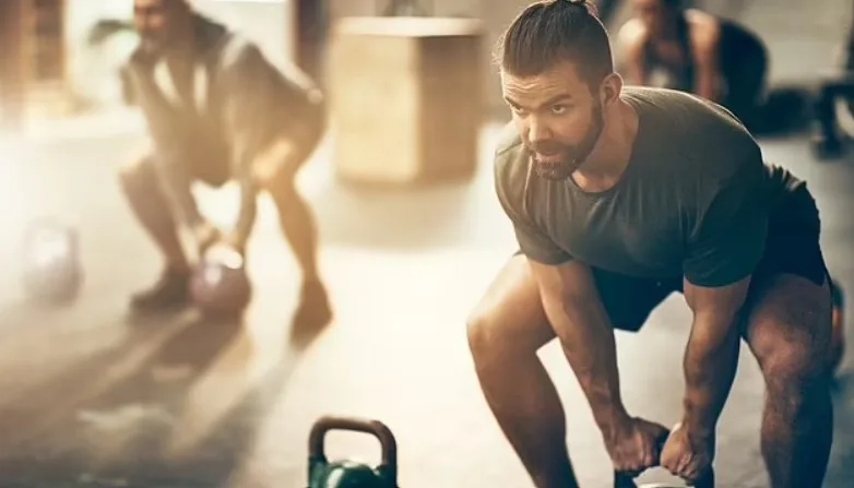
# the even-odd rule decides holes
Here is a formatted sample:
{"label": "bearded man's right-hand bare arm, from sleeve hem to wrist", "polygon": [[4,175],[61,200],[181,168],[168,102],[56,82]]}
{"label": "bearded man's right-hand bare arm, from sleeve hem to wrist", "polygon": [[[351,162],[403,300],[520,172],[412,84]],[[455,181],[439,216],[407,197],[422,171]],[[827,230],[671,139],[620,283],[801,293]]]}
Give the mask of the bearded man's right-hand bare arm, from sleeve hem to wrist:
{"label": "bearded man's right-hand bare arm, from sleeve hem to wrist", "polygon": [[690,432],[711,436],[738,364],[738,312],[750,278],[709,288],[685,283],[693,324],[685,350],[684,424]]}

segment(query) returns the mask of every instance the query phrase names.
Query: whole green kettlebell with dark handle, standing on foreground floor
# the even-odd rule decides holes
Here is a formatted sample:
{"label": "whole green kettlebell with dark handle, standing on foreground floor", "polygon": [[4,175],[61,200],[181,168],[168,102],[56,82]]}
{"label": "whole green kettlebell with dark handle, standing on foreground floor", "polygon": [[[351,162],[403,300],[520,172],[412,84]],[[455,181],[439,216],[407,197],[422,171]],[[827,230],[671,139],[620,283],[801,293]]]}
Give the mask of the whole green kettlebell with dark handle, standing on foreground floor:
{"label": "whole green kettlebell with dark handle, standing on foreground floor", "polygon": [[[355,461],[327,459],[324,441],[331,430],[364,432],[376,437],[382,447],[382,461],[371,467]],[[308,438],[308,488],[398,488],[398,443],[394,435],[379,420],[322,417],[311,427]]]}

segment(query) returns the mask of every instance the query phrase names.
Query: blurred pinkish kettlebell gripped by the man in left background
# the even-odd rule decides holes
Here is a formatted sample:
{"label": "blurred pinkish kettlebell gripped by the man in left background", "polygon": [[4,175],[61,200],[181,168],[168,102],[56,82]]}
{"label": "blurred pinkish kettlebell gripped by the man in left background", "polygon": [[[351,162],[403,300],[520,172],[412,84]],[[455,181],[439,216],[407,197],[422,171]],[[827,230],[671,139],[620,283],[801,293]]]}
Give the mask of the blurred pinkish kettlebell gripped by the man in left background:
{"label": "blurred pinkish kettlebell gripped by the man in left background", "polygon": [[244,257],[224,246],[210,249],[193,270],[190,295],[206,314],[242,312],[252,295]]}

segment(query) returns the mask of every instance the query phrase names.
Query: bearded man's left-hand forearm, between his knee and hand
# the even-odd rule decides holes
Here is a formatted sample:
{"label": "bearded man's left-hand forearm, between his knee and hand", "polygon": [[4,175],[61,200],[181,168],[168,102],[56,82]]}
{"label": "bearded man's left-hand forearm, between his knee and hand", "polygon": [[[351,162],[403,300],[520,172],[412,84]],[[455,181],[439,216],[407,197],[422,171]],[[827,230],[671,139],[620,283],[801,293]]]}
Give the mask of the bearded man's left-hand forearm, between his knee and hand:
{"label": "bearded man's left-hand forearm, between his knee and hand", "polygon": [[545,300],[546,314],[603,432],[628,415],[622,405],[614,330],[596,300]]}

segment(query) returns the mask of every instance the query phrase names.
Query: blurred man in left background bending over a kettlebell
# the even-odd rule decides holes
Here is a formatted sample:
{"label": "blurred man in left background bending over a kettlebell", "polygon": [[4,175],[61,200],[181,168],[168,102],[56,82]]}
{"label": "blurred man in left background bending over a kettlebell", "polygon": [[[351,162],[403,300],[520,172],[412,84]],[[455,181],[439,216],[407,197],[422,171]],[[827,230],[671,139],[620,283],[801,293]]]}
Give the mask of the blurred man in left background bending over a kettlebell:
{"label": "blurred man in left background bending over a kettlebell", "polygon": [[[137,311],[183,306],[190,259],[178,229],[199,254],[215,245],[241,253],[256,221],[259,191],[275,202],[282,230],[303,272],[297,321],[331,318],[318,273],[318,238],[295,177],[325,128],[323,97],[295,67],[274,68],[260,49],[195,12],[187,0],[134,0],[140,44],[122,70],[128,102],[147,122],[152,147],[124,165],[120,180],[133,213],[165,259],[159,279],[131,299]],[[223,231],[200,213],[193,182],[239,185],[236,224]]]}

